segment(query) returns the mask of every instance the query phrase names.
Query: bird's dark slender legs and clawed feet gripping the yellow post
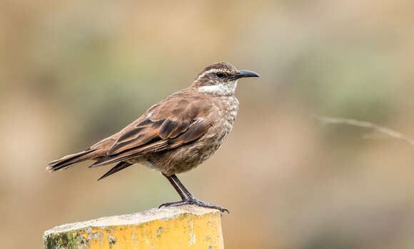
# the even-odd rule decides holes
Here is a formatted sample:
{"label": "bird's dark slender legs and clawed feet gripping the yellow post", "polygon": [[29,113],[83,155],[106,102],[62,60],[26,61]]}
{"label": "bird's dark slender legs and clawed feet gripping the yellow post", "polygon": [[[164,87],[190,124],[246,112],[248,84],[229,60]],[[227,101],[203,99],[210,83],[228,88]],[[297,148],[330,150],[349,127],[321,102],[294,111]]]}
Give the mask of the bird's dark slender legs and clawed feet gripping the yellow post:
{"label": "bird's dark slender legs and clawed feet gripping the yellow post", "polygon": [[190,191],[187,190],[187,188],[183,185],[183,183],[181,183],[181,181],[177,178],[176,175],[166,176],[163,173],[163,176],[165,176],[168,179],[168,181],[171,183],[171,185],[176,189],[178,195],[180,195],[181,197],[181,200],[173,202],[173,203],[163,203],[162,205],[159,206],[159,208],[172,207],[172,206],[178,206],[178,205],[198,205],[200,207],[214,208],[214,209],[221,210],[221,212],[226,211],[227,213],[229,213],[226,208],[222,208],[221,206],[213,205],[211,203],[206,203],[202,200],[198,200],[197,198],[195,198],[193,195],[191,195]]}

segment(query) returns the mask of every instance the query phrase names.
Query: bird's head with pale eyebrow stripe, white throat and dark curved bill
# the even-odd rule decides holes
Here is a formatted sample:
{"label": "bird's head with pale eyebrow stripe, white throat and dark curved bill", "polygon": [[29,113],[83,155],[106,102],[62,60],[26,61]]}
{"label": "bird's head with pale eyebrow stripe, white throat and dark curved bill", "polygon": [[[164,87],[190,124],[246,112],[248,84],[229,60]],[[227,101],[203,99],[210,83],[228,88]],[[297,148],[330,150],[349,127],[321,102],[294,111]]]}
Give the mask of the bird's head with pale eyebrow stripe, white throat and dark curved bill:
{"label": "bird's head with pale eyebrow stripe, white throat and dark curved bill", "polygon": [[259,77],[258,73],[237,70],[231,63],[213,63],[201,71],[191,86],[216,96],[233,95],[239,78]]}

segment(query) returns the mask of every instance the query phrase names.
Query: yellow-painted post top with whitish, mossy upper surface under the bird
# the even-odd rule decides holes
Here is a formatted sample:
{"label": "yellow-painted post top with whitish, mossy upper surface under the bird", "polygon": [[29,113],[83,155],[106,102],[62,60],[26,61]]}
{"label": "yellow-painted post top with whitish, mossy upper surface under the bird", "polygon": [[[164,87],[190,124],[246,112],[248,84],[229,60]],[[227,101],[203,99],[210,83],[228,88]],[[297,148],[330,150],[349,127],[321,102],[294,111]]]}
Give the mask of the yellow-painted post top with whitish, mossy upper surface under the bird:
{"label": "yellow-painted post top with whitish, mossy upper surface under the bird", "polygon": [[220,211],[193,205],[59,225],[44,233],[44,245],[46,249],[224,248]]}

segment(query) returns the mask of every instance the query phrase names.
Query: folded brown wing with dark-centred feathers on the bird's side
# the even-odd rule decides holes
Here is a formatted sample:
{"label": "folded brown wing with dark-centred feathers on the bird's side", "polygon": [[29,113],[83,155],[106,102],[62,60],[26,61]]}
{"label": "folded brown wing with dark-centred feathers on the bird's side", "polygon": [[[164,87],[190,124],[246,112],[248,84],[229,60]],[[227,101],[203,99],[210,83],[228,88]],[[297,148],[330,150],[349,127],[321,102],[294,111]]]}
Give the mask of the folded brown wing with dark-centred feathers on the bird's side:
{"label": "folded brown wing with dark-centred feathers on the bird's side", "polygon": [[106,156],[91,167],[177,148],[203,136],[212,125],[206,118],[211,103],[201,98],[187,100],[183,97],[167,98],[146,111],[118,134]]}

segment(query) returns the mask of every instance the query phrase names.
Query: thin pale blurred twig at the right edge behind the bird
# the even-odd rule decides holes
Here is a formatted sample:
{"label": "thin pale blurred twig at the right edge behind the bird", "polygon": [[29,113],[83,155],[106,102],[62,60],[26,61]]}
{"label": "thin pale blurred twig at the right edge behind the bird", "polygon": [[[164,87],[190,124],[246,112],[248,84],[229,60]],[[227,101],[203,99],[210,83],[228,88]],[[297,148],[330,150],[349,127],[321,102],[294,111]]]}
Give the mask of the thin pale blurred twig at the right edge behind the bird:
{"label": "thin pale blurred twig at the right edge behind the bird", "polygon": [[318,118],[318,120],[320,121],[320,123],[323,124],[323,126],[329,125],[329,124],[347,124],[350,126],[358,126],[358,127],[363,127],[363,128],[370,128],[373,129],[374,131],[384,134],[386,136],[389,136],[391,138],[397,138],[400,140],[403,140],[407,143],[410,143],[412,146],[414,146],[414,139],[411,138],[410,136],[405,135],[404,133],[400,133],[398,131],[394,131],[390,128],[386,128],[383,126],[378,126],[375,123],[370,123],[367,121],[359,121],[356,119],[352,119],[352,118],[336,118],[336,117],[327,117],[327,116],[316,116],[316,118]]}

